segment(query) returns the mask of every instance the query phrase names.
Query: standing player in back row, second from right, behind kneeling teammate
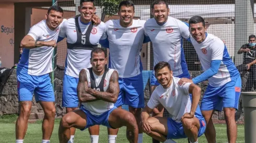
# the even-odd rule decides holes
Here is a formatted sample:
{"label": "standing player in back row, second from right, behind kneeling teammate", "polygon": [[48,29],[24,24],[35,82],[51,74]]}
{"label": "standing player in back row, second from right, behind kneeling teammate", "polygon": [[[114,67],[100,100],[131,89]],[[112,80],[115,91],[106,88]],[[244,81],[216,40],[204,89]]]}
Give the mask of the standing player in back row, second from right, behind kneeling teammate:
{"label": "standing player in back row, second from right, behind kneeling teammate", "polygon": [[[184,22],[168,16],[170,10],[165,0],[156,0],[152,4],[151,18],[144,25],[145,35],[153,44],[154,66],[160,61],[166,61],[171,65],[173,76],[190,78],[187,62],[183,51],[183,38],[189,38],[189,27]],[[159,83],[154,71],[150,80],[150,92],[153,92]],[[162,116],[164,108],[158,106],[153,110],[158,116]]]}

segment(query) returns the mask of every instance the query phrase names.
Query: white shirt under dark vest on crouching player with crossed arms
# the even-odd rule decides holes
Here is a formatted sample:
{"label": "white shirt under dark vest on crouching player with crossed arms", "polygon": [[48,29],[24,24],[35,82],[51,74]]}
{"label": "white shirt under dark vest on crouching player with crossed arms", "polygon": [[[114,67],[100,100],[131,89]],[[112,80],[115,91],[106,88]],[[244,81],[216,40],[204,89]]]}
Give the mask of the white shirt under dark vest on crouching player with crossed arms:
{"label": "white shirt under dark vest on crouching player with crossed arms", "polygon": [[[86,71],[86,75],[87,75],[88,87],[90,88],[91,87],[90,72],[88,69],[85,69],[85,71]],[[111,77],[113,71],[115,71],[115,70],[109,69],[106,74],[106,77],[104,80],[104,85],[103,85],[104,92],[106,92],[109,87],[109,80],[110,80],[110,77]],[[95,77],[96,86],[98,86],[100,84],[103,74],[100,76],[96,75],[94,72],[93,72],[93,74]],[[93,101],[93,102],[83,102],[82,105],[84,106],[84,108],[86,110],[90,111],[92,114],[95,114],[95,115],[100,115],[101,113],[109,111],[110,109],[112,109],[114,107],[114,103],[103,101],[103,100],[97,100],[97,101]]]}

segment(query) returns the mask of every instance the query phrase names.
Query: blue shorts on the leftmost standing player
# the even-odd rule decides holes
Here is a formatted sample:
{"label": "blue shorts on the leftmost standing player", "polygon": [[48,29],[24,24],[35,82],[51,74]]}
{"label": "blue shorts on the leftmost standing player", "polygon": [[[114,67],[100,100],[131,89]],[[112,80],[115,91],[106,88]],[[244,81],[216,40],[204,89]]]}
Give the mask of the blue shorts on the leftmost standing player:
{"label": "blue shorts on the leftmost standing player", "polygon": [[55,101],[49,74],[30,75],[27,70],[17,68],[17,89],[19,101],[32,101],[33,94],[36,102]]}

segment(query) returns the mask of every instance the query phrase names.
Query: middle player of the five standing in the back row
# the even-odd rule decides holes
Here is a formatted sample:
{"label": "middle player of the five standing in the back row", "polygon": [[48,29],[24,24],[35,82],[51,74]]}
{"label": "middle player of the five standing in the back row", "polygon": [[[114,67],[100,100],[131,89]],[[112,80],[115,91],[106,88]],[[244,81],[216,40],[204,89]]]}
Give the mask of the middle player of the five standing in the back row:
{"label": "middle player of the five standing in the back row", "polygon": [[[119,19],[106,22],[108,38],[100,41],[103,47],[109,47],[110,67],[119,73],[120,93],[115,106],[129,105],[136,122],[141,122],[141,108],[144,108],[144,88],[140,52],[142,44],[149,42],[144,38],[145,20],[135,20],[132,1],[119,4]],[[107,43],[107,44],[106,44]],[[118,129],[110,129],[109,143],[115,142]],[[143,132],[139,128],[138,143],[143,142]]]}

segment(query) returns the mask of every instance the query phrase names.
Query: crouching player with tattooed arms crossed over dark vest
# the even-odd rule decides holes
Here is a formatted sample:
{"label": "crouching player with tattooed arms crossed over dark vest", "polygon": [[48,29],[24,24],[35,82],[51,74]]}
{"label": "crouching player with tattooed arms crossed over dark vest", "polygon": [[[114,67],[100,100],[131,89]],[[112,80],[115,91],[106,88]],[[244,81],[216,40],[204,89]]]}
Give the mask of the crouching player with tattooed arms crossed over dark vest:
{"label": "crouching player with tattooed arms crossed over dark vest", "polygon": [[60,142],[70,139],[71,127],[82,131],[93,125],[110,128],[127,127],[126,134],[130,142],[138,141],[138,126],[134,115],[114,106],[119,94],[118,72],[105,69],[106,50],[95,48],[91,51],[92,68],[82,69],[77,85],[78,99],[82,107],[63,116],[60,128]]}

